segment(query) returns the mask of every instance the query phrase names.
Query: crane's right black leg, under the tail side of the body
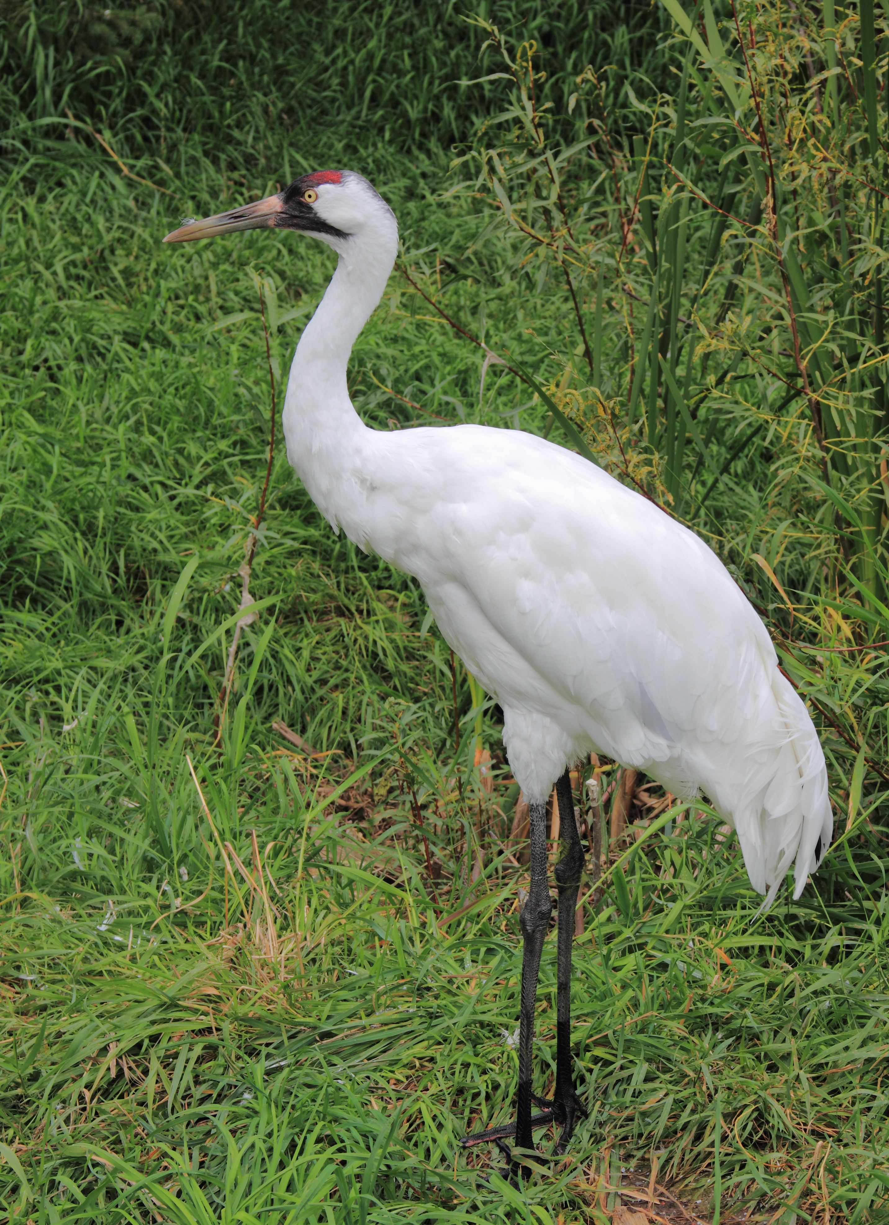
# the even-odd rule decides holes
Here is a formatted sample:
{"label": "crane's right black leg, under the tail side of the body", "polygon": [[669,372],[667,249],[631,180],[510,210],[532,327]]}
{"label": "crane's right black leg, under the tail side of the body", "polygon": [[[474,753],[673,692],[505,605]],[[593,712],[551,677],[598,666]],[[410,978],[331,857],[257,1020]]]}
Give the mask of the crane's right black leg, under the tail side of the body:
{"label": "crane's right black leg, under the tail side of the body", "polygon": [[556,1011],[556,1091],[553,1117],[562,1125],[557,1153],[563,1153],[574,1131],[577,1116],[585,1115],[583,1104],[574,1093],[571,1055],[571,953],[574,941],[574,911],[584,867],[580,834],[574,820],[574,800],[571,794],[571,775],[566,771],[556,783],[558,801],[558,831],[562,858],[556,864],[558,887],[558,993]]}

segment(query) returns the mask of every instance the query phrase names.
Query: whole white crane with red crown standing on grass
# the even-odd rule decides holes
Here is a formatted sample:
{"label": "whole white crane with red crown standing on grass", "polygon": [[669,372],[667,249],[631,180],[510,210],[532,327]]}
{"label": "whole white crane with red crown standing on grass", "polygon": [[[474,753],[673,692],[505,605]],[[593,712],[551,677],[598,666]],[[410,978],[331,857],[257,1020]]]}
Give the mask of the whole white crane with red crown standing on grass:
{"label": "whole white crane with red crown standing on grass", "polygon": [[[567,769],[596,751],[680,796],[704,791],[735,827],[753,888],[795,897],[830,843],[816,729],[771,641],[716,555],[595,464],[533,434],[481,425],[382,432],[347,390],[351,347],[382,298],[398,224],[360,174],[307,174],[279,195],[190,222],[165,243],[293,229],[339,256],[302,332],[284,402],[288,458],[321,513],[419,579],[445,639],[503,709],[509,766],[530,805],[516,1121],[464,1143],[561,1125],[583,1105],[571,1057],[571,947],[583,850]],[[556,1085],[531,1093],[534,1001],[552,903],[546,800],[556,785]],[[531,1104],[544,1109],[533,1116]]]}

